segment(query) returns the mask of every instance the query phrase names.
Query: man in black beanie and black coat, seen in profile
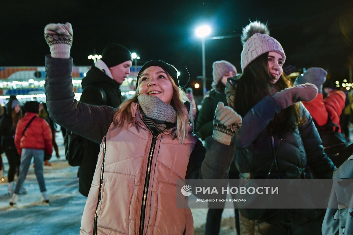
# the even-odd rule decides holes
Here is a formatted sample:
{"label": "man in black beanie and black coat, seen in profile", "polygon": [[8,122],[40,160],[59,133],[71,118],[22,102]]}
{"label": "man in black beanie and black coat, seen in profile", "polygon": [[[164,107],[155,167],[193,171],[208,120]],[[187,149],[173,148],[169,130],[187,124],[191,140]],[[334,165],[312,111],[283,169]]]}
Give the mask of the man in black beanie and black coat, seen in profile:
{"label": "man in black beanie and black coat, seen in profile", "polygon": [[[132,65],[131,52],[120,44],[108,44],[86,77],[82,79],[82,95],[80,102],[93,105],[107,105],[118,108],[124,98],[120,85],[130,73]],[[80,137],[81,138],[81,137]],[[99,145],[82,137],[85,150],[79,168],[79,192],[88,196],[93,174],[100,151]]]}

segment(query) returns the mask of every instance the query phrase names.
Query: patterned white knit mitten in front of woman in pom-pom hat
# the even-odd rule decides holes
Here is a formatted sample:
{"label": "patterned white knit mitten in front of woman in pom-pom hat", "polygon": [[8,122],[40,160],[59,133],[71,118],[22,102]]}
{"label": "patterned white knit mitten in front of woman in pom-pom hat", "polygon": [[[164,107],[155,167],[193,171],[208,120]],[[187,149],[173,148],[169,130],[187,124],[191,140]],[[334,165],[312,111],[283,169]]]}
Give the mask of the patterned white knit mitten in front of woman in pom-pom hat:
{"label": "patterned white knit mitten in front of woman in pom-pom hat", "polygon": [[241,116],[232,108],[224,106],[223,102],[217,104],[213,120],[212,138],[221,144],[231,145],[233,135],[241,126]]}

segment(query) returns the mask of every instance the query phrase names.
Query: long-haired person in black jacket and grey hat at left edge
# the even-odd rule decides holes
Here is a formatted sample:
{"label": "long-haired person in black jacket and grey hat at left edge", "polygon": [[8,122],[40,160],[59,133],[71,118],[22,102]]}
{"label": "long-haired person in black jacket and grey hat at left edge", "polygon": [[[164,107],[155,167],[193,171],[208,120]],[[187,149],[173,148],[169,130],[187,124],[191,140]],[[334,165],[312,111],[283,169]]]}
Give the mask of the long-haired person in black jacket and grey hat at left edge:
{"label": "long-haired person in black jacket and grey hat at left edge", "polygon": [[1,149],[5,152],[9,169],[8,169],[8,193],[13,193],[14,176],[20,165],[20,156],[17,153],[14,135],[16,131],[17,122],[22,118],[22,112],[20,103],[16,97],[10,97],[10,100],[6,104],[7,112],[0,121],[0,138],[1,138]]}

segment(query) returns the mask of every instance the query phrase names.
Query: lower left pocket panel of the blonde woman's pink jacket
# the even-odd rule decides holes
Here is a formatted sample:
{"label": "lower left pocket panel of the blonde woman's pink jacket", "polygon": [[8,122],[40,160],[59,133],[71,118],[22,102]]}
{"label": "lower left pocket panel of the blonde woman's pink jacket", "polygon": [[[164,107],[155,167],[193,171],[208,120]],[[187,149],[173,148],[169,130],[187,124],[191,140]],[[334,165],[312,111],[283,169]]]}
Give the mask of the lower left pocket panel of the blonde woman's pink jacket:
{"label": "lower left pocket panel of the blonde woman's pink jacket", "polygon": [[129,234],[130,204],[135,176],[104,172],[97,226]]}

